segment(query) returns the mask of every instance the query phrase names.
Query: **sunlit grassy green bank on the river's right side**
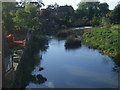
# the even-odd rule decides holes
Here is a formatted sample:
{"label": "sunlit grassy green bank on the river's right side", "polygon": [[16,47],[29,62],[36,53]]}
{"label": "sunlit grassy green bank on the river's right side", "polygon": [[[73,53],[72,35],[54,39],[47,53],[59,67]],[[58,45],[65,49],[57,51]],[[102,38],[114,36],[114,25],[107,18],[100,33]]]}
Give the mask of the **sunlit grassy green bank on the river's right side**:
{"label": "sunlit grassy green bank on the river's right side", "polygon": [[118,28],[93,28],[83,34],[84,42],[92,48],[99,49],[103,54],[117,58],[120,54],[118,50]]}

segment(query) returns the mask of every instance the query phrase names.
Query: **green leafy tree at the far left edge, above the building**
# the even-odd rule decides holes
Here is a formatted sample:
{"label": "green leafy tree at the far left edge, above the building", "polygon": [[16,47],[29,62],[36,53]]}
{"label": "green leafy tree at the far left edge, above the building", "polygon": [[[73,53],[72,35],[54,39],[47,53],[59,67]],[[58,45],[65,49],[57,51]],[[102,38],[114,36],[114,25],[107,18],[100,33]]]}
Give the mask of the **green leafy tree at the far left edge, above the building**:
{"label": "green leafy tree at the far left edge, above the building", "polygon": [[2,20],[3,20],[3,30],[6,33],[12,33],[14,30],[13,15],[15,11],[14,2],[3,2],[2,7]]}

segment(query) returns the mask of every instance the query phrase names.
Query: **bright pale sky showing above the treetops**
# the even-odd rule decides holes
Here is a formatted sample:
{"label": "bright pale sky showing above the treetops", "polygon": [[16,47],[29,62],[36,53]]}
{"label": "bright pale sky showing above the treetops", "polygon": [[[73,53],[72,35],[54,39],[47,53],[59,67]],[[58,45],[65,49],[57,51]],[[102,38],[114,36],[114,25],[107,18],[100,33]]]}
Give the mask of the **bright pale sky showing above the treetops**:
{"label": "bright pale sky showing above the treetops", "polygon": [[[20,0],[17,0],[20,1]],[[22,1],[22,0],[21,0]],[[36,0],[28,0],[28,1],[36,1]],[[77,9],[77,4],[81,1],[81,0],[42,0],[43,3],[45,4],[45,6],[43,8],[46,8],[47,5],[50,4],[55,4],[57,3],[60,6],[63,5],[72,5],[74,9]],[[85,0],[83,0],[85,1]],[[88,0],[89,1],[89,0]],[[114,9],[114,7],[118,4],[118,2],[120,0],[99,0],[101,3],[103,2],[107,2],[109,5],[109,9],[112,10]]]}

